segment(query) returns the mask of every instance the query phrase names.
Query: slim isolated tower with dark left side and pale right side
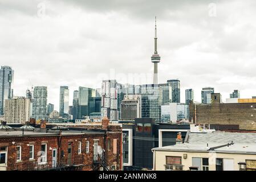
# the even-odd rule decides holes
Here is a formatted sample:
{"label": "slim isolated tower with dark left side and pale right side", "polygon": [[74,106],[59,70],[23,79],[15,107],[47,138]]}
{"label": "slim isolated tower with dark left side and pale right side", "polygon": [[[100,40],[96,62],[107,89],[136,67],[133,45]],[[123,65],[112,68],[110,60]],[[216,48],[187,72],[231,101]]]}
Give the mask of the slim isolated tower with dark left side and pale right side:
{"label": "slim isolated tower with dark left side and pale right side", "polygon": [[59,114],[63,116],[64,114],[68,114],[68,102],[69,102],[69,90],[68,86],[60,86],[59,93]]}

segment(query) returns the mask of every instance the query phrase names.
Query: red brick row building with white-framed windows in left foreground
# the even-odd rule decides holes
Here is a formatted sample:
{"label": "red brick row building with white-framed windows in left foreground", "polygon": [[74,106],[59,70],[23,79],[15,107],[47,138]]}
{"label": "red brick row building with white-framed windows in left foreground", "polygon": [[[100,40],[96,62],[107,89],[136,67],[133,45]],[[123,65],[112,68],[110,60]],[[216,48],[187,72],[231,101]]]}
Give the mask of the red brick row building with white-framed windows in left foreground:
{"label": "red brick row building with white-framed windows in left foreground", "polygon": [[[1,170],[121,170],[120,126],[0,126]],[[29,130],[29,127],[31,128]]]}

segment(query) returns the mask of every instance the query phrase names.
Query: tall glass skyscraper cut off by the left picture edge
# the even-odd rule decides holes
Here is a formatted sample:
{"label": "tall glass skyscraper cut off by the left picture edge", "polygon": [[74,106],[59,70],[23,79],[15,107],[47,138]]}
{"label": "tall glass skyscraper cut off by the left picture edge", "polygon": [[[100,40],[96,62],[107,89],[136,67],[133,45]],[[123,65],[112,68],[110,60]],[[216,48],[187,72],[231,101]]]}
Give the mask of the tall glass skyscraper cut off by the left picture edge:
{"label": "tall glass skyscraper cut off by the left picture edge", "polygon": [[13,97],[13,89],[11,83],[13,82],[14,71],[11,67],[3,66],[0,69],[0,115],[3,115],[3,107],[5,100]]}

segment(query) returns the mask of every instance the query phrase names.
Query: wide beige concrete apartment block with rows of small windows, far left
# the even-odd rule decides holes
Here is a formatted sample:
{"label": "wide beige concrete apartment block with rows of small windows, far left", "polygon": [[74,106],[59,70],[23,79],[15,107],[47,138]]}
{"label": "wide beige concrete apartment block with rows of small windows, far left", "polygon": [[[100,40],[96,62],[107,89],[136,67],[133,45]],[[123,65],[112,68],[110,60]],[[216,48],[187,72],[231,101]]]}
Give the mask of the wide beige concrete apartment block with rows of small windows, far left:
{"label": "wide beige concrete apartment block with rows of small windows, far left", "polygon": [[30,120],[30,100],[13,97],[5,100],[5,121],[8,124],[21,124]]}

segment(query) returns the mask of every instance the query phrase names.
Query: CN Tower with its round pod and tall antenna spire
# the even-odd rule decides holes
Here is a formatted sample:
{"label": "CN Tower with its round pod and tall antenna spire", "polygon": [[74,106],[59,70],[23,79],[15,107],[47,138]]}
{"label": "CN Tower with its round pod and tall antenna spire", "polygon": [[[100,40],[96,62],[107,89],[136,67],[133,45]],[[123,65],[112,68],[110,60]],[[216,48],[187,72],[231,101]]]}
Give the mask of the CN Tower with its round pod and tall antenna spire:
{"label": "CN Tower with its round pod and tall antenna spire", "polygon": [[157,63],[160,63],[160,55],[157,53],[157,36],[156,36],[156,17],[155,17],[155,52],[151,56],[151,62],[154,63],[154,85],[158,84]]}

